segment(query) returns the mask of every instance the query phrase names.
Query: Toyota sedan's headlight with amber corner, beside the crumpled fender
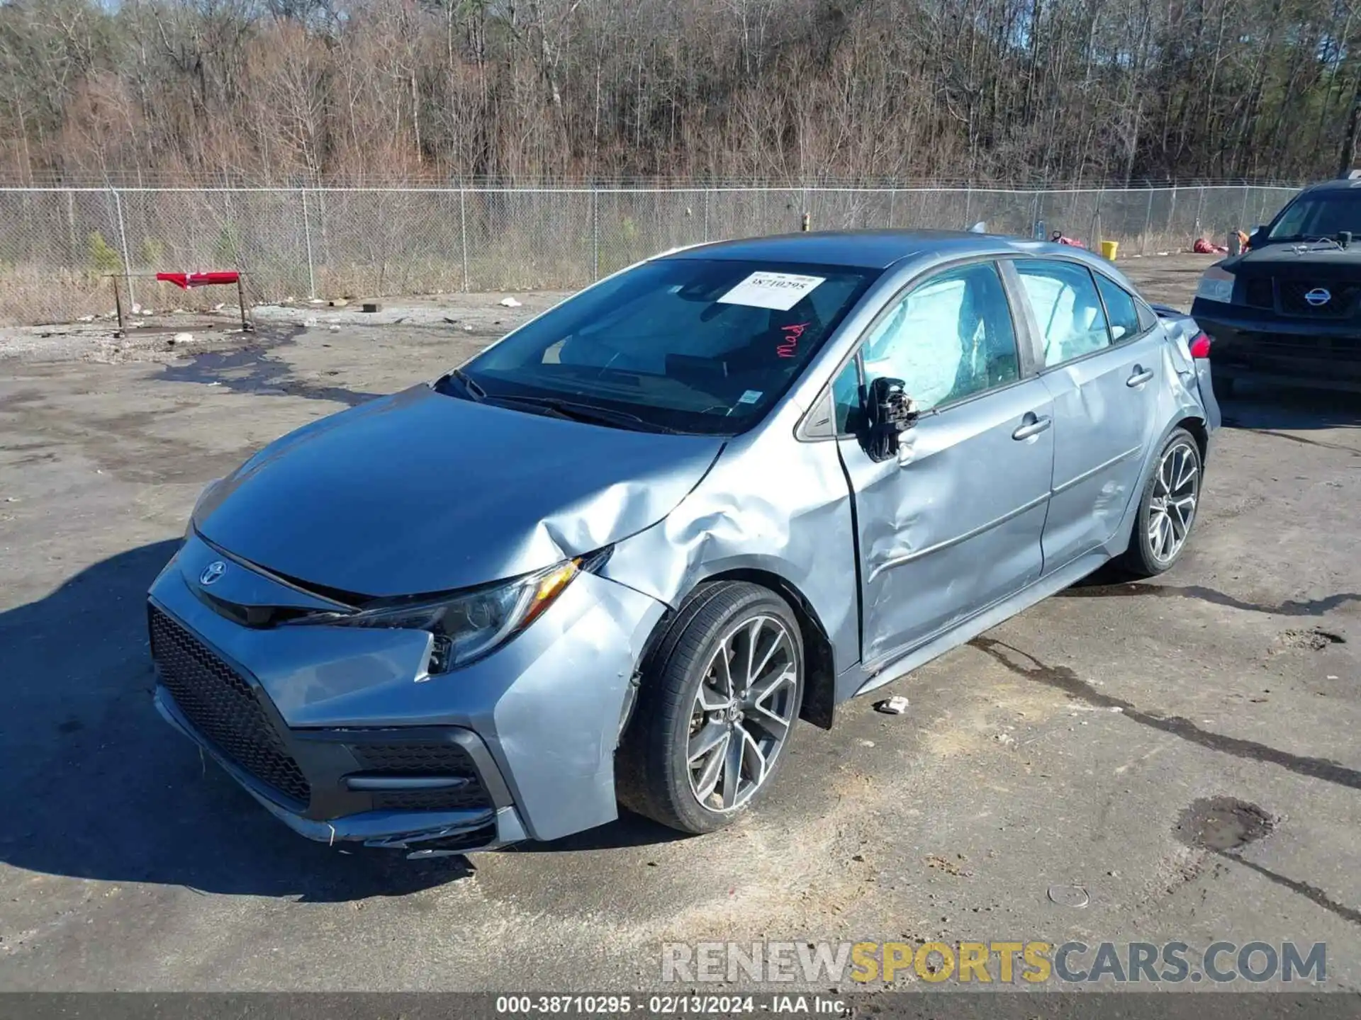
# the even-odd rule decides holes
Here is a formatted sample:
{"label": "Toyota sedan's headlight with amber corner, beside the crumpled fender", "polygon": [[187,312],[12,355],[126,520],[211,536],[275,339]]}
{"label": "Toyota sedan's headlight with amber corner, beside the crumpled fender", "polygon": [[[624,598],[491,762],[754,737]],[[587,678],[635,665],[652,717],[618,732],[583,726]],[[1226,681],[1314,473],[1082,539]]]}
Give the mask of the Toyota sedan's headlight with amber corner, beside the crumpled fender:
{"label": "Toyota sedan's headlight with amber corner, beside the crumpled fender", "polygon": [[434,647],[426,672],[433,676],[482,658],[510,641],[553,605],[553,600],[578,573],[581,559],[569,559],[495,588],[419,602],[392,600],[354,613],[314,613],[293,620],[290,626],[429,631],[434,635]]}

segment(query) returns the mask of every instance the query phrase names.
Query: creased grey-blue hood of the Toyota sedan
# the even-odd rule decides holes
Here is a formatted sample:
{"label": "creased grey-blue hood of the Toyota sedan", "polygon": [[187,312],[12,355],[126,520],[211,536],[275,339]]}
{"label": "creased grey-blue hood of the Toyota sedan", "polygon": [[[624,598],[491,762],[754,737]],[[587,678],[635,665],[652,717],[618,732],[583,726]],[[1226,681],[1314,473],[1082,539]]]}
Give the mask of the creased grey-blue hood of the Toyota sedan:
{"label": "creased grey-blue hood of the Toyota sedan", "polygon": [[723,442],[546,418],[421,385],[264,447],[204,495],[195,528],[304,585],[374,597],[442,592],[656,524]]}

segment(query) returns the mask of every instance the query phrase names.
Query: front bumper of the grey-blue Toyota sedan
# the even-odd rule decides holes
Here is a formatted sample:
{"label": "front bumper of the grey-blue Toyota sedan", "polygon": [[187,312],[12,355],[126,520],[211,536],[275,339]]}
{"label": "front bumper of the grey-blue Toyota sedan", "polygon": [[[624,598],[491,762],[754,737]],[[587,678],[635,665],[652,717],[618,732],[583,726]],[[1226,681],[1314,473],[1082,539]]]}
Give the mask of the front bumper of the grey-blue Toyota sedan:
{"label": "front bumper of the grey-blue Toyota sedan", "polygon": [[[215,559],[191,537],[151,588],[155,704],[294,831],[461,851],[617,817],[614,749],[656,600],[581,574],[509,645],[427,677],[422,631],[226,617],[197,585]],[[241,563],[212,593],[298,598]]]}

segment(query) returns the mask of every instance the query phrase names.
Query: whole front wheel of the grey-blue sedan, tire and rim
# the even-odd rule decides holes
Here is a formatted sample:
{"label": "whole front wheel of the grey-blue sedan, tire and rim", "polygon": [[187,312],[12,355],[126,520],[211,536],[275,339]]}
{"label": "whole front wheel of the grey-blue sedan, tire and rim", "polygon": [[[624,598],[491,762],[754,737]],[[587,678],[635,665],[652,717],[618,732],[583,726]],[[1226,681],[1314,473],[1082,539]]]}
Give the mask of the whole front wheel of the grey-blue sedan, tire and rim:
{"label": "whole front wheel of the grey-blue sedan, tire and rim", "polygon": [[[757,683],[743,696],[753,634]],[[682,832],[731,824],[778,774],[803,683],[799,622],[783,598],[747,582],[701,585],[644,664],[615,758],[619,801]]]}

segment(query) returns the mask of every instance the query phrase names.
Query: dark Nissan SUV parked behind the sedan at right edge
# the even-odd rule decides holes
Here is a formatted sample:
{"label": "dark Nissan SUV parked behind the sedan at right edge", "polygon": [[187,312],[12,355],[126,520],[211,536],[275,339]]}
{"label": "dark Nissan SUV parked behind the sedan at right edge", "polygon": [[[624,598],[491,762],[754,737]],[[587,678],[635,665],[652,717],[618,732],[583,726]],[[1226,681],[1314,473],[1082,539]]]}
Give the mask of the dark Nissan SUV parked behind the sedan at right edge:
{"label": "dark Nissan SUV parked behind the sedan at right edge", "polygon": [[1361,392],[1361,173],[1305,188],[1248,243],[1191,306],[1219,394],[1244,377]]}

